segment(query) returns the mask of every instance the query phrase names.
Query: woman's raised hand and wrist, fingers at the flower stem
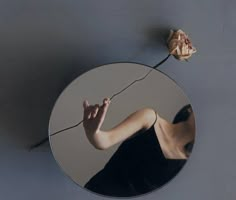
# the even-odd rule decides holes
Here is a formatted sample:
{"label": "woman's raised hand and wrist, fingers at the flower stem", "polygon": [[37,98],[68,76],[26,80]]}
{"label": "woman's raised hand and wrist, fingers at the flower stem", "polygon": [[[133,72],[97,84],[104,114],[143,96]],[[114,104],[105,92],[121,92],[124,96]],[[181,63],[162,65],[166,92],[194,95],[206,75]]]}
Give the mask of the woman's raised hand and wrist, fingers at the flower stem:
{"label": "woman's raised hand and wrist, fingers at the flower stem", "polygon": [[102,149],[102,145],[106,142],[105,135],[102,134],[100,128],[105,119],[109,105],[109,98],[105,98],[101,106],[99,104],[89,105],[87,100],[83,102],[83,127],[90,143],[97,149]]}

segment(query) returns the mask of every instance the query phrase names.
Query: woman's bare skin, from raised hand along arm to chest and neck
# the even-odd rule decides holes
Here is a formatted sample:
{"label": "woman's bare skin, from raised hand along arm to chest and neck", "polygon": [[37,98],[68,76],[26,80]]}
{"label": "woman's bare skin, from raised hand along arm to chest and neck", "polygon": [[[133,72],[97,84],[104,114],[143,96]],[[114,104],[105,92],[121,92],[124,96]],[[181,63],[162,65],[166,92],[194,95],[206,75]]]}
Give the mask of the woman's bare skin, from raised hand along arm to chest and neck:
{"label": "woman's bare skin, from raised hand along arm to chest and neck", "polygon": [[138,131],[149,129],[157,118],[154,129],[164,156],[167,159],[187,159],[189,157],[184,146],[193,141],[195,136],[195,120],[191,110],[189,110],[191,114],[187,121],[172,124],[160,117],[152,108],[142,108],[130,114],[110,130],[105,131],[101,130],[101,126],[110,102],[109,98],[105,98],[102,105],[89,105],[87,100],[83,102],[83,127],[89,142],[96,149],[108,149]]}

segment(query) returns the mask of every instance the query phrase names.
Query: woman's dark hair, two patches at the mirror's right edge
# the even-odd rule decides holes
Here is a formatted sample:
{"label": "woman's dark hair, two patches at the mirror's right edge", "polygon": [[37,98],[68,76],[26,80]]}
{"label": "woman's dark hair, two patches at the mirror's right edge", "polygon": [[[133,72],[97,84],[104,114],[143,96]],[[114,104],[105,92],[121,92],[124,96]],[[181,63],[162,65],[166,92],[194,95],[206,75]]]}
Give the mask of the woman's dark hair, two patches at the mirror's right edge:
{"label": "woman's dark hair, two patches at the mirror's right edge", "polygon": [[[180,111],[175,115],[175,118],[173,120],[173,124],[177,124],[179,122],[187,121],[192,113],[192,107],[190,104],[184,106],[180,109]],[[184,148],[185,150],[190,154],[193,149],[194,141],[187,143]]]}

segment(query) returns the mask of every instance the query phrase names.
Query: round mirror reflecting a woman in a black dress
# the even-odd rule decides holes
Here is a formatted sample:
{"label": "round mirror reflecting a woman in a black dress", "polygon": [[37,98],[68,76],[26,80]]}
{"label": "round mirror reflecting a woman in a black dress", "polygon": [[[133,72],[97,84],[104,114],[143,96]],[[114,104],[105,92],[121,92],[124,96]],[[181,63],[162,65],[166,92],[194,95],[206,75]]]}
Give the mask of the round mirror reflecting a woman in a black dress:
{"label": "round mirror reflecting a woman in a black dress", "polygon": [[187,96],[164,73],[113,63],[87,71],[64,89],[49,135],[55,160],[80,187],[133,197],[155,191],[183,168],[195,119]]}

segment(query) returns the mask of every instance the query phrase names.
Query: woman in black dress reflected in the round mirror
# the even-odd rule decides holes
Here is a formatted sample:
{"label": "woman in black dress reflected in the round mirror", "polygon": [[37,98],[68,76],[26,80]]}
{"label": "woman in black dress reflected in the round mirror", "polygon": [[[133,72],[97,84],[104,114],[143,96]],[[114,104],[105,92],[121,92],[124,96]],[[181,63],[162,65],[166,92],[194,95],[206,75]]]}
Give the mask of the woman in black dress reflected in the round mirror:
{"label": "woman in black dress reflected in the round mirror", "polygon": [[190,105],[184,106],[173,123],[151,108],[129,115],[110,130],[101,130],[110,100],[100,106],[83,102],[83,126],[90,143],[104,150],[123,143],[85,188],[99,194],[128,197],[150,192],[169,181],[191,153],[195,120]]}

